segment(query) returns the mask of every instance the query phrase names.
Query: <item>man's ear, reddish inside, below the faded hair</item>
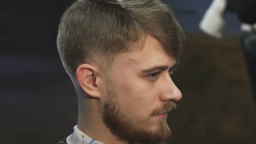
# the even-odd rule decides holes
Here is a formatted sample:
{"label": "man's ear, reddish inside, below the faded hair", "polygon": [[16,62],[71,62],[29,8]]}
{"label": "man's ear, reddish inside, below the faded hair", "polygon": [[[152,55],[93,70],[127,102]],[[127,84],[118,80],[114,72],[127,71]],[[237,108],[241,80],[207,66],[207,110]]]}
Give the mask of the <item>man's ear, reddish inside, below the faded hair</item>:
{"label": "man's ear, reddish inside, below the faded hair", "polygon": [[80,87],[84,92],[93,98],[100,98],[100,92],[98,89],[98,69],[89,64],[82,64],[76,70],[76,76]]}

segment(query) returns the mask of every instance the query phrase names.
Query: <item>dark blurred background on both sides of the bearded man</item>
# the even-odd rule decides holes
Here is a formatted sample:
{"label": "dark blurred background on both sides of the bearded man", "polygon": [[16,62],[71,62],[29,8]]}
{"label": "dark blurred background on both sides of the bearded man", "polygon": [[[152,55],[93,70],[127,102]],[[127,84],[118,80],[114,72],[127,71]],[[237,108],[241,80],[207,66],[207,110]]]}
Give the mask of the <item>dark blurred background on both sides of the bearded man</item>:
{"label": "dark blurred background on both sides of the bearded man", "polygon": [[[0,9],[0,144],[55,144],[73,132],[77,99],[56,48],[61,14],[73,0],[4,1]],[[212,0],[164,0],[186,33],[174,74],[183,99],[170,113],[168,144],[256,144],[256,106],[227,13],[222,39],[199,23]]]}

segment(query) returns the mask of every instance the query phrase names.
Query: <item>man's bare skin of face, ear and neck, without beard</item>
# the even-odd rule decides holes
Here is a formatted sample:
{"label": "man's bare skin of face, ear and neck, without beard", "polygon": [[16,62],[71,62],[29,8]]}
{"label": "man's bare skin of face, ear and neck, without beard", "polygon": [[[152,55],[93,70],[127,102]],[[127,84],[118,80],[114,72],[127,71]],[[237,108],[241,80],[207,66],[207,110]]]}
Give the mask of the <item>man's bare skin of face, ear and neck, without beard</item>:
{"label": "man's bare skin of face, ear and neck, without beard", "polygon": [[[82,88],[77,92],[78,128],[104,144],[127,144],[118,140],[102,120],[102,111],[108,101],[108,79],[115,88],[122,112],[135,128],[146,126],[148,130],[156,131],[164,118],[152,116],[152,111],[171,101],[181,100],[181,92],[170,77],[176,61],[167,55],[152,36],[146,38],[144,49],[140,52],[116,56],[108,74],[102,72],[94,62],[84,63],[77,69],[77,78]],[[160,65],[166,69],[142,72]]]}

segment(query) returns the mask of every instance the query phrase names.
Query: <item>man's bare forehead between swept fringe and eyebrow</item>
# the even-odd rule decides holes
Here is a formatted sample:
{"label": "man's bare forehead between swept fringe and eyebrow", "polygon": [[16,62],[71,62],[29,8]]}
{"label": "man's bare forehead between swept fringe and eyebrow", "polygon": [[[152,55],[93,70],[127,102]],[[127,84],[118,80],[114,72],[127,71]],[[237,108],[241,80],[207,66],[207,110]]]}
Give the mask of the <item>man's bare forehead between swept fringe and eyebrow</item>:
{"label": "man's bare forehead between swept fringe and eyebrow", "polygon": [[116,56],[113,66],[135,66],[138,69],[147,69],[155,65],[175,64],[175,59],[168,56],[157,39],[148,36],[144,43],[144,48],[140,52],[123,53]]}

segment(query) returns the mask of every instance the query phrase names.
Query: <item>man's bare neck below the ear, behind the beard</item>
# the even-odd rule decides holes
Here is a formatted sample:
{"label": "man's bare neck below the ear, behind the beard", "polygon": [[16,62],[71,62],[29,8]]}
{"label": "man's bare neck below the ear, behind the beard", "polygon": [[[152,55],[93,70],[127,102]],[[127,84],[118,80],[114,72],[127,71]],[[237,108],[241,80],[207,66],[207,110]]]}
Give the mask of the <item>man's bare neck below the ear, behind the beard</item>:
{"label": "man's bare neck below the ear, behind the beard", "polygon": [[78,100],[77,128],[80,131],[104,144],[128,144],[119,141],[105,126],[102,120],[103,107],[100,106],[101,101],[99,99],[78,98]]}

